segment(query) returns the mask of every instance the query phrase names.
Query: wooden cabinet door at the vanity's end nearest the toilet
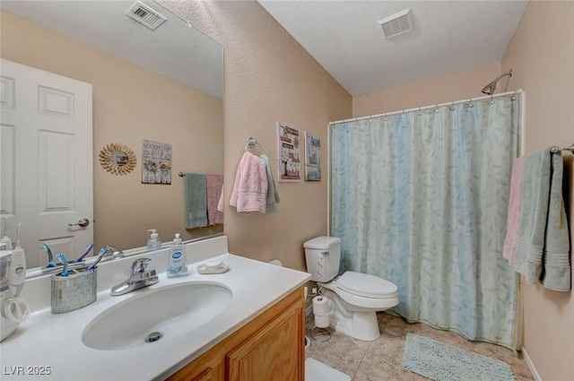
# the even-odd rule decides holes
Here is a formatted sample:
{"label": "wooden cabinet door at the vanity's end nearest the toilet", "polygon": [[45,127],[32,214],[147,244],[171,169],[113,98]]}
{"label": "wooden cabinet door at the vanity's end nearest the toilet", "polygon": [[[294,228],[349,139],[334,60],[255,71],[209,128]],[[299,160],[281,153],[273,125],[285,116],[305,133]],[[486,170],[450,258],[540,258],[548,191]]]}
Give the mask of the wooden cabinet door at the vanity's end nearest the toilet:
{"label": "wooden cabinet door at the vanity's end nearest the toilet", "polygon": [[230,381],[303,381],[303,307],[287,308],[227,355]]}

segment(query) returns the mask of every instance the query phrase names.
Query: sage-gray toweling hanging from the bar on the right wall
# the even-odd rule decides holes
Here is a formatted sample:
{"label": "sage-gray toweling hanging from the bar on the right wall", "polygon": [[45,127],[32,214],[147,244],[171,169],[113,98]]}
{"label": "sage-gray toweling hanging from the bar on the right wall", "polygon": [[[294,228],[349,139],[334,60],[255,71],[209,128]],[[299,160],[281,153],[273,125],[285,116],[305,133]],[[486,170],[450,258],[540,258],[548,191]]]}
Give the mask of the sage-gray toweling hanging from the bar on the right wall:
{"label": "sage-gray toweling hanging from the bar on the right wall", "polygon": [[563,162],[550,147],[526,158],[514,269],[527,283],[570,290],[570,241],[562,199]]}

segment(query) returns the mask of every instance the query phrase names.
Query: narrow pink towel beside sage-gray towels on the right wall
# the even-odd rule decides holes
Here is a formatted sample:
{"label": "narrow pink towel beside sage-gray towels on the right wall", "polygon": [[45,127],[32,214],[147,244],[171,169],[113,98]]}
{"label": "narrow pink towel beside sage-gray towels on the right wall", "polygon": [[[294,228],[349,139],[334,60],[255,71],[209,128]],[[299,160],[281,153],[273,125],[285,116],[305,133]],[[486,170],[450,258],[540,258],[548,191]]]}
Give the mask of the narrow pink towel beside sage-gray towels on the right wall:
{"label": "narrow pink towel beside sage-gray towels on the right wall", "polygon": [[519,157],[512,168],[510,181],[509,216],[506,227],[506,238],[502,256],[514,265],[518,247],[518,229],[520,228],[520,212],[522,210],[522,185],[524,184],[524,168],[526,156]]}

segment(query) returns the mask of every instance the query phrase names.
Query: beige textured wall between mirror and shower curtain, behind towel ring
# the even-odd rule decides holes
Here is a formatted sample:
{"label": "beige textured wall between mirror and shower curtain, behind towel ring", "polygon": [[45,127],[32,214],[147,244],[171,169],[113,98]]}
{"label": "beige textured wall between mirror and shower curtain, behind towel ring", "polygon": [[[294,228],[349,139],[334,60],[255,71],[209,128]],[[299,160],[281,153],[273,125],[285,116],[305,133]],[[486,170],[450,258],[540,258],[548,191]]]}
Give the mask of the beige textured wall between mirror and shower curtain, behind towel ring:
{"label": "beige textured wall between mirror and shower curtain, behind towel ring", "polygon": [[224,49],[227,202],[248,136],[257,138],[272,162],[277,121],[322,137],[322,181],[277,183],[281,203],[275,214],[246,216],[229,205],[225,209],[230,252],[277,258],[305,270],[303,242],[326,234],[326,126],[351,116],[351,96],[257,2],[161,3]]}

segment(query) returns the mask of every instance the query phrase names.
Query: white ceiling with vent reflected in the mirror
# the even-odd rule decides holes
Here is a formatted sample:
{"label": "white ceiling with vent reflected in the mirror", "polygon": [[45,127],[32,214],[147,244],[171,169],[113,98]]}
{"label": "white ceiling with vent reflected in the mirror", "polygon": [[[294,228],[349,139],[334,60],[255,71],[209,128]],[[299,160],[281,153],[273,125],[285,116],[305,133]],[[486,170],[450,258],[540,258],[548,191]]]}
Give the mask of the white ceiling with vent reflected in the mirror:
{"label": "white ceiling with vent reflected in the mirror", "polygon": [[[222,98],[222,47],[187,22],[144,0],[168,20],[150,30],[125,13],[135,0],[0,1],[0,8]],[[143,78],[142,81],[145,79]]]}

